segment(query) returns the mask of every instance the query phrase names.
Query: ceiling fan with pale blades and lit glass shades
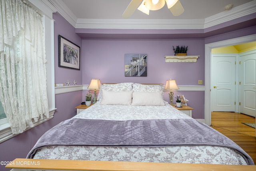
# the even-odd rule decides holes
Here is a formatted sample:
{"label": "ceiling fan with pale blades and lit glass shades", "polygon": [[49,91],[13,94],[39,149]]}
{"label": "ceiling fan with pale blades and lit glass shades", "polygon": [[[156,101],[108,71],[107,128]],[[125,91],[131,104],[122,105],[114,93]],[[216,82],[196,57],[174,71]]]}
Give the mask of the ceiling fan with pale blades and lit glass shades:
{"label": "ceiling fan with pale blades and lit glass shades", "polygon": [[136,9],[149,15],[150,10],[159,10],[165,3],[172,12],[172,15],[179,16],[184,12],[180,0],[132,0],[122,14],[123,18],[130,18]]}

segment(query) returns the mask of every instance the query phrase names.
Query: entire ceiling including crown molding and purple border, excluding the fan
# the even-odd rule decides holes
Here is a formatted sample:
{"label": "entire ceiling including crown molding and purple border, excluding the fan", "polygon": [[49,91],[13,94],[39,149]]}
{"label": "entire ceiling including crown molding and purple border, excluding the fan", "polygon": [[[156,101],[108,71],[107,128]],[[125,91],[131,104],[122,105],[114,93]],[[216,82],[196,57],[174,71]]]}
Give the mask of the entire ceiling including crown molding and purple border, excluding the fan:
{"label": "entire ceiling including crown molding and purple border, excluding the fan", "polygon": [[[131,0],[42,1],[81,38],[206,38],[256,25],[256,0],[180,0],[180,16],[173,16],[165,4],[149,15],[136,10],[128,19],[122,14]],[[225,10],[230,4],[233,8]]]}

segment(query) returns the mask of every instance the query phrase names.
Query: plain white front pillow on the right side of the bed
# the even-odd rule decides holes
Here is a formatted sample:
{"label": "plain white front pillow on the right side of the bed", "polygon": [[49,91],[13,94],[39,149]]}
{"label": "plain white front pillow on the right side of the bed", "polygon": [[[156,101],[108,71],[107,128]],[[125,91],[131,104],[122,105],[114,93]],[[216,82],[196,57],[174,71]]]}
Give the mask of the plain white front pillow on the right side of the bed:
{"label": "plain white front pillow on the right side of the bed", "polygon": [[132,93],[132,105],[157,105],[162,106],[164,99],[162,92],[136,92]]}

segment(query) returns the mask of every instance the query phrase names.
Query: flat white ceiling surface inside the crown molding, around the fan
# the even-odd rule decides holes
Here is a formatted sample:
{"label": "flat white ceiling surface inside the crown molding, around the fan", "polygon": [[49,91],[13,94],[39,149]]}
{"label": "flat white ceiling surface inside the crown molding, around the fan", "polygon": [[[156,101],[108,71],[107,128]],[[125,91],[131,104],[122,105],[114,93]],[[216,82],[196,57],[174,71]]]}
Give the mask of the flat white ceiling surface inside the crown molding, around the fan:
{"label": "flat white ceiling surface inside the crown molding, around the fan", "polygon": [[[122,14],[131,0],[60,0],[72,11],[76,18],[122,19]],[[185,11],[173,16],[165,5],[157,11],[144,14],[136,10],[130,19],[205,19],[221,12],[224,7],[234,4],[236,8],[253,0],[180,0]],[[234,10],[234,9],[232,9]]]}

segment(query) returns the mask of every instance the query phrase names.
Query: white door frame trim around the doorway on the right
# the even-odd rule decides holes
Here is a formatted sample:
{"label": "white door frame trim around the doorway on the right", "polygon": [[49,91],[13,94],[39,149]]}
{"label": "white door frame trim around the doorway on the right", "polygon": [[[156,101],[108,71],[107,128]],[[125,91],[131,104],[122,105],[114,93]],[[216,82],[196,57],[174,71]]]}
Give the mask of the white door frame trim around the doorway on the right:
{"label": "white door frame trim around the doorway on the right", "polygon": [[234,38],[230,40],[224,40],[220,42],[214,42],[205,45],[205,102],[204,102],[204,120],[207,125],[211,125],[211,111],[212,111],[212,100],[211,100],[211,91],[212,91],[212,73],[211,73],[211,51],[213,48],[219,48],[224,46],[232,46],[236,44],[244,44],[248,42],[255,42],[256,34],[250,36],[244,36],[241,38]]}

